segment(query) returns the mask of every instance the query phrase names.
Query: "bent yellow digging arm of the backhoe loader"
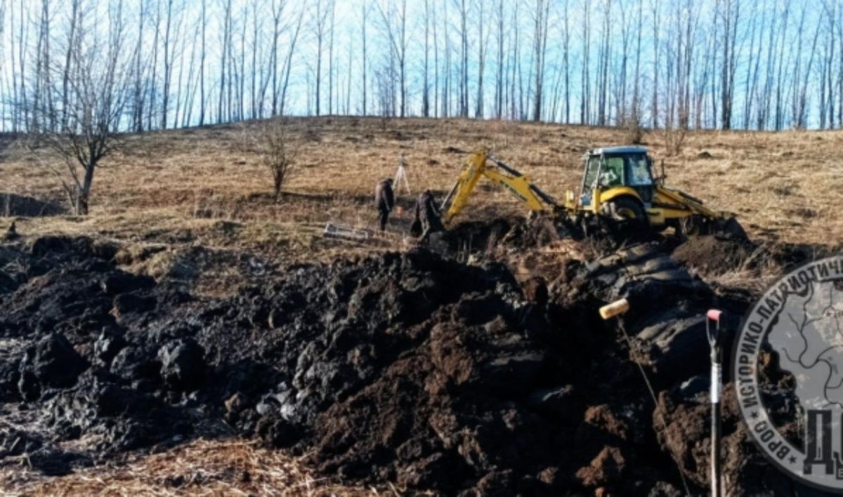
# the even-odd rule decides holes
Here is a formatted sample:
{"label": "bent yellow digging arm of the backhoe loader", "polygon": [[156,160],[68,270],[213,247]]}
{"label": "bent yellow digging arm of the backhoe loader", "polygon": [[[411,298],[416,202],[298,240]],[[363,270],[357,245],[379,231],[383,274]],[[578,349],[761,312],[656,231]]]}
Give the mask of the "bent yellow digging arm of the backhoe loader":
{"label": "bent yellow digging arm of the backhoe loader", "polygon": [[530,211],[552,211],[558,206],[556,199],[530,183],[527,176],[492,157],[486,150],[481,150],[469,158],[462,173],[459,174],[457,183],[442,203],[441,210],[445,212],[443,216],[445,224],[463,210],[477,183],[484,176],[515,195],[518,200],[526,204]]}

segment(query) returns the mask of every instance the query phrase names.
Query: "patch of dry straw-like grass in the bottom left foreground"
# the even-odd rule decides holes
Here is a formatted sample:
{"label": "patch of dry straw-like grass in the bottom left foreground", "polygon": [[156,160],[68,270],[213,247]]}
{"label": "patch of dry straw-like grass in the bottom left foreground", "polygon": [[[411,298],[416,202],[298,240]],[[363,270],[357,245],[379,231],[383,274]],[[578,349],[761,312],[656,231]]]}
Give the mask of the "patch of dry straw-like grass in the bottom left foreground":
{"label": "patch of dry straw-like grass in the bottom left foreground", "polygon": [[237,440],[191,441],[167,452],[130,456],[59,478],[20,468],[0,471],[0,488],[31,495],[397,495],[398,489],[336,484],[294,457]]}

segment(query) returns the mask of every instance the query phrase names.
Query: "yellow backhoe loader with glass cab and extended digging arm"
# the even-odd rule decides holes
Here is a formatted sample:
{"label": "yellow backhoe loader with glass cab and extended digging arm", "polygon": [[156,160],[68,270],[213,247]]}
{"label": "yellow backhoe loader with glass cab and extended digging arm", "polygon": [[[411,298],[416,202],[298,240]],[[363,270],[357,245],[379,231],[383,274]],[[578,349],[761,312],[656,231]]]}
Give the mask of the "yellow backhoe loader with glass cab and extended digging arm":
{"label": "yellow backhoe loader with glass cab and extended digging arm", "polygon": [[583,157],[580,194],[566,192],[564,203],[545,193],[529,177],[482,149],[471,155],[457,183],[443,201],[446,226],[463,210],[481,178],[499,184],[524,202],[530,211],[550,214],[585,234],[597,227],[633,231],[663,231],[673,227],[679,236],[719,234],[746,238],[734,215],[713,211],[685,192],[664,185],[653,175],[652,158],[644,147],[603,147]]}

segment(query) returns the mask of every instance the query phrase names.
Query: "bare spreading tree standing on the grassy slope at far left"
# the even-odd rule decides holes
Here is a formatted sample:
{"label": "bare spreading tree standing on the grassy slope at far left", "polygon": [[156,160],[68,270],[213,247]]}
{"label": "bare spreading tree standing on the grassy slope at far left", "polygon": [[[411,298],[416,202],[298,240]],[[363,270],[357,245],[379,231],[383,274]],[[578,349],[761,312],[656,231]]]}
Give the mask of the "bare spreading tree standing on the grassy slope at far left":
{"label": "bare spreading tree standing on the grassy slope at far left", "polygon": [[[48,147],[62,159],[64,170],[42,161],[62,182],[73,211],[87,215],[94,171],[103,158],[120,144],[117,132],[127,97],[125,61],[121,49],[124,38],[123,13],[109,8],[108,36],[80,33],[69,48],[71,70],[67,72],[67,96],[59,86],[46,88],[40,100],[24,103],[31,115],[31,150]],[[62,65],[40,68],[56,72],[45,80],[62,81]]]}

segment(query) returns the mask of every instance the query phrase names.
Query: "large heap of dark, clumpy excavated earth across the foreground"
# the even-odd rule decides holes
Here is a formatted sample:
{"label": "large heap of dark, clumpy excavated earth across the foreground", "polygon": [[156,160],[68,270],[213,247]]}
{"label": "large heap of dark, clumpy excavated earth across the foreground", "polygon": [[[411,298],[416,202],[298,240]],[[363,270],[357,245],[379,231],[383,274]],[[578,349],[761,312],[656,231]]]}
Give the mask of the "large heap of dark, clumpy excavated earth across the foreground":
{"label": "large heap of dark, clumpy excavated earth across the foreground", "polygon": [[[441,494],[702,492],[702,316],[739,317],[750,296],[718,297],[658,241],[517,274],[505,255],[547,241],[510,228],[470,227],[488,255],[472,264],[415,249],[298,265],[217,299],[121,270],[111,243],[0,245],[0,464],[63,474],[235,431],[344,480]],[[619,297],[631,311],[600,320]],[[727,392],[729,493],[801,491]]]}

